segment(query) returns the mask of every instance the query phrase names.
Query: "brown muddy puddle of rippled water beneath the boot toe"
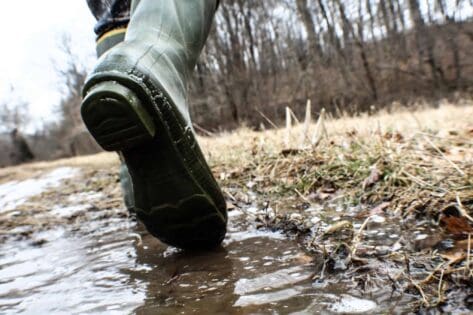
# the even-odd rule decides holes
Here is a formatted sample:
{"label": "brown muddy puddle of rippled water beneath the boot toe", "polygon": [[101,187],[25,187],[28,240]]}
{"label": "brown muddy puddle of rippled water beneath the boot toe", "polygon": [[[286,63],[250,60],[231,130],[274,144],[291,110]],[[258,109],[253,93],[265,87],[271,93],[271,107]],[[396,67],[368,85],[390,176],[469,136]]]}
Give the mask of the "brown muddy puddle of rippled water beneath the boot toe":
{"label": "brown muddy puddle of rippled water beneath the boot toe", "polygon": [[[20,210],[15,209],[28,198],[54,192],[67,181],[83,180],[80,174],[81,170],[63,168],[0,185],[1,214],[19,216]],[[320,263],[301,249],[299,241],[257,229],[247,219],[248,209],[230,212],[222,248],[191,253],[151,237],[127,217],[123,206],[102,209],[99,204],[108,197],[97,191],[65,193],[55,205],[34,212],[48,222],[64,220],[46,228],[43,224],[41,229],[31,229],[26,221],[12,227],[18,231],[0,244],[0,313],[373,314],[408,310],[403,305],[409,298],[393,293],[389,286],[362,292],[353,281],[320,278]],[[377,234],[376,239],[392,239],[388,245],[394,246],[400,232],[383,233],[387,234]]]}

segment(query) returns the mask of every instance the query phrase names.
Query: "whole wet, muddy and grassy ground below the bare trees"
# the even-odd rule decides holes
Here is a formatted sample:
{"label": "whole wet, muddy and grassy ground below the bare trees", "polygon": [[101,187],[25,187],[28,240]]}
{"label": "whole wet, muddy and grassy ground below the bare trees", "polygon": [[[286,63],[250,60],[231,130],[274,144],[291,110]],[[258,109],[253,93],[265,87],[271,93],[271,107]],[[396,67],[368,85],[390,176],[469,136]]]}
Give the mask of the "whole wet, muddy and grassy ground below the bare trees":
{"label": "whole wet, muddy and grassy ground below the bare trees", "polygon": [[134,220],[113,154],[4,169],[0,310],[471,313],[472,114],[319,120],[315,142],[304,126],[202,139],[230,211],[206,253]]}

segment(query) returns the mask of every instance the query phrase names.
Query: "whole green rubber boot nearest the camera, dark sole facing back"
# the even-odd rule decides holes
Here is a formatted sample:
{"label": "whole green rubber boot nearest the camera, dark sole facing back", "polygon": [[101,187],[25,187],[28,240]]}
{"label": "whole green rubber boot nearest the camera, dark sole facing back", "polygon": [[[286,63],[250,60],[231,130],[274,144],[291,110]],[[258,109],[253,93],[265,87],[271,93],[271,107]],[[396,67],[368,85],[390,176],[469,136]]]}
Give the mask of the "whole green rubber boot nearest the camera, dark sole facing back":
{"label": "whole green rubber boot nearest the camera, dark sole facing back", "polygon": [[215,247],[226,232],[225,200],[187,103],[216,6],[215,0],[135,1],[125,41],[99,59],[81,108],[97,142],[125,160],[138,219],[163,242],[186,249]]}

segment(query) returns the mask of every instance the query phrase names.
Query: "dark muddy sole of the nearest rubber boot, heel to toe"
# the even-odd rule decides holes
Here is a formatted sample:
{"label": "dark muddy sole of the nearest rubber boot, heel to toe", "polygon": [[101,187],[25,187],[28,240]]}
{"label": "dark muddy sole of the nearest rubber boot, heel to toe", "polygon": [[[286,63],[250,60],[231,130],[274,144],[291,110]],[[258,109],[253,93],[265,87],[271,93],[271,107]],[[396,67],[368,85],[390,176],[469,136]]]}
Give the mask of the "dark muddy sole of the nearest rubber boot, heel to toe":
{"label": "dark muddy sole of the nearest rubber boot, heel to toe", "polygon": [[[97,83],[83,101],[82,118],[100,146],[123,156],[135,211],[151,234],[181,248],[215,247],[227,220],[204,189],[215,180],[203,156],[195,154],[200,150],[193,132],[169,116],[172,105],[160,95],[139,98],[117,82]],[[151,107],[165,110],[158,115]]]}

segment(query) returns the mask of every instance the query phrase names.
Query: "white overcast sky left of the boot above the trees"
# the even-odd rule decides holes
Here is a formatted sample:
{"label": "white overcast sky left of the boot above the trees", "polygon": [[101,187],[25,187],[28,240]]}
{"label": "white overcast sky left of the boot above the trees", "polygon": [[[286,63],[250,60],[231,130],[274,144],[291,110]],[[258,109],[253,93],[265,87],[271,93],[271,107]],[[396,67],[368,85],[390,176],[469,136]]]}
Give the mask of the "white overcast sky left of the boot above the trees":
{"label": "white overcast sky left of the boot above the trees", "polygon": [[22,98],[30,104],[36,126],[54,119],[61,98],[55,67],[64,64],[61,39],[69,36],[74,53],[90,67],[95,59],[94,24],[85,0],[2,1],[0,103]]}

